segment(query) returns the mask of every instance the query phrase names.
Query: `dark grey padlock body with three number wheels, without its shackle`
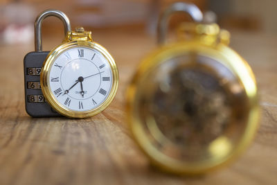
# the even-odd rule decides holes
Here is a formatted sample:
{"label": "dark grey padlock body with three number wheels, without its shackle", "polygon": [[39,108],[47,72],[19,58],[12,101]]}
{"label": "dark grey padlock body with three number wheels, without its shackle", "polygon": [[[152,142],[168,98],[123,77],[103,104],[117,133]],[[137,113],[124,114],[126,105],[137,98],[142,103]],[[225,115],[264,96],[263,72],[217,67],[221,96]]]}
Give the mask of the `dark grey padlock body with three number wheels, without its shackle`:
{"label": "dark grey padlock body with three number wheels, without its shackle", "polygon": [[62,116],[48,105],[40,89],[40,72],[48,53],[30,52],[24,58],[25,107],[32,117]]}

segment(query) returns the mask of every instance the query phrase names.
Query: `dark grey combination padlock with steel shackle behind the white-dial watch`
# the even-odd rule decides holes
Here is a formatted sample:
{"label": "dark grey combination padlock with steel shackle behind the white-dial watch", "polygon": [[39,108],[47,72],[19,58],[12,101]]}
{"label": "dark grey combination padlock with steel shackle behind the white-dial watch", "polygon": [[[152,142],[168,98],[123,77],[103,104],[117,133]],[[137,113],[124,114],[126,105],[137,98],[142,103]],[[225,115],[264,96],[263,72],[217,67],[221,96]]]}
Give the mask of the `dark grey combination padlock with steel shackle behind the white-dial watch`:
{"label": "dark grey combination padlock with steel shackle behind the white-dial watch", "polygon": [[40,73],[42,64],[50,51],[42,51],[42,21],[46,17],[54,16],[62,20],[64,35],[71,32],[69,18],[59,10],[42,12],[35,20],[35,51],[24,58],[24,87],[26,112],[33,117],[61,116],[48,103],[42,94]]}

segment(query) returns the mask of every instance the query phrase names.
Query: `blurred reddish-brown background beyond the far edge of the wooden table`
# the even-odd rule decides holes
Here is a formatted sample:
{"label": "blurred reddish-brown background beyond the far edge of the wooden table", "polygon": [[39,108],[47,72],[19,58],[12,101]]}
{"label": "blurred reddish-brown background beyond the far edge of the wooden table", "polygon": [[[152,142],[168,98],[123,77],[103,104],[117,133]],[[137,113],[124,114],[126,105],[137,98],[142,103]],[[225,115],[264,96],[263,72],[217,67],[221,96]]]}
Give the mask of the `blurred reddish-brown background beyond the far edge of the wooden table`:
{"label": "blurred reddish-brown background beyond the far edge of the wooden table", "polygon": [[[62,10],[72,28],[93,30],[140,29],[154,35],[160,12],[175,0],[1,0],[0,44],[33,40],[35,17],[47,8]],[[217,21],[229,30],[277,33],[275,0],[198,0],[202,10],[213,10]],[[178,19],[177,19],[178,20]],[[174,25],[174,21],[172,23]],[[44,34],[60,34],[62,24],[51,17],[44,21]]]}

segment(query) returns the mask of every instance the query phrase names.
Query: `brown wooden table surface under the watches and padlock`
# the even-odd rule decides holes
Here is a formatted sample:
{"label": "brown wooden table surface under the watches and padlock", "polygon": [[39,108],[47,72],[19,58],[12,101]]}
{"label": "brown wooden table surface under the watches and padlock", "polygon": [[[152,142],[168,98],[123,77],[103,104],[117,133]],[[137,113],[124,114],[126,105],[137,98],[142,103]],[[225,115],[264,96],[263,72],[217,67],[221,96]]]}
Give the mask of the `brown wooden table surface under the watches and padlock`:
{"label": "brown wooden table surface under the watches and padlock", "polygon": [[[141,58],[154,49],[143,32],[96,31],[114,55],[118,94],[86,119],[31,118],[24,107],[23,58],[28,45],[0,45],[0,184],[277,184],[277,34],[233,33],[231,46],[249,61],[260,87],[262,118],[255,141],[231,166],[199,177],[152,168],[129,134],[125,89]],[[60,38],[44,38],[51,49]]]}

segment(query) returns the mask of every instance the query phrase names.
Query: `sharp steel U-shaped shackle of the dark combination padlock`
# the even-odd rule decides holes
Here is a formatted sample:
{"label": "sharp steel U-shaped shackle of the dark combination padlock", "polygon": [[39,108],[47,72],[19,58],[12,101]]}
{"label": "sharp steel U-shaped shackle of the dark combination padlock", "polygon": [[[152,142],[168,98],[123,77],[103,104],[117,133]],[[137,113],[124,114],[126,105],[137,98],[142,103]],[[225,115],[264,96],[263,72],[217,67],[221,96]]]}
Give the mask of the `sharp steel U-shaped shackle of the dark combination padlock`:
{"label": "sharp steel U-shaped shackle of the dark combination padlock", "polygon": [[45,10],[40,13],[35,19],[35,51],[42,51],[42,22],[46,17],[54,16],[62,20],[64,24],[64,35],[71,32],[71,24],[69,21],[69,17],[67,17],[64,12],[60,10]]}

